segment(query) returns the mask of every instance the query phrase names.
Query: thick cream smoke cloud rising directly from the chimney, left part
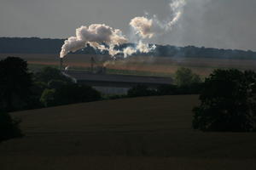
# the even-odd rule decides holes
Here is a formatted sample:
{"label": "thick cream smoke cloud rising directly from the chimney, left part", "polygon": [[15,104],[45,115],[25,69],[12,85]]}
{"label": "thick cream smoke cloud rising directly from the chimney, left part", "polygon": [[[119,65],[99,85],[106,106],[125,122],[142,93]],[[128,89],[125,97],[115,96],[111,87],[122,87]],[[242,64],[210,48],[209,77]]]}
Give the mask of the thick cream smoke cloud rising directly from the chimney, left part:
{"label": "thick cream smoke cloud rising directly from the chimney, left part", "polygon": [[[91,47],[101,50],[108,50],[109,54],[115,55],[119,51],[114,49],[115,45],[127,42],[122,35],[122,31],[113,29],[104,24],[94,24],[90,26],[81,26],[76,29],[76,37],[69,37],[61,47],[60,57],[63,58],[69,52],[75,52],[85,48],[89,43]],[[107,44],[108,47],[102,45]]]}

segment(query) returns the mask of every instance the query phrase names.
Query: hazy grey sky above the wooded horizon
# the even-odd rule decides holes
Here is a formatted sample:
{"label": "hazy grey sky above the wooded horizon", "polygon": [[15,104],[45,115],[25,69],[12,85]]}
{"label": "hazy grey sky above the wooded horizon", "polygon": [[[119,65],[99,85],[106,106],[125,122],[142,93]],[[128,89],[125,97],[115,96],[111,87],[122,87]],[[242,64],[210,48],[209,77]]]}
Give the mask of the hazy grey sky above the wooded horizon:
{"label": "hazy grey sky above the wooded horizon", "polygon": [[[150,42],[256,51],[255,0],[186,0],[172,31]],[[74,36],[79,26],[106,24],[130,37],[130,20],[171,16],[170,0],[0,0],[0,37]]]}

